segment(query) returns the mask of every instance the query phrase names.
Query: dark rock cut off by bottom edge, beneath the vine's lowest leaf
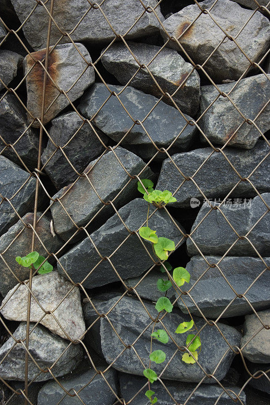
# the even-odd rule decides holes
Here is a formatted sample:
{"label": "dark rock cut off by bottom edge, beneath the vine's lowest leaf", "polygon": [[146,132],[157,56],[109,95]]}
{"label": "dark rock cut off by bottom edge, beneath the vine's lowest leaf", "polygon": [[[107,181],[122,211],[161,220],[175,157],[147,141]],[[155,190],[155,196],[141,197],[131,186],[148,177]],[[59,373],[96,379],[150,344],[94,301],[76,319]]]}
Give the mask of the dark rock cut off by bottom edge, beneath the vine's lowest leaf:
{"label": "dark rock cut off by bottom edge, beneath the vine's lowest leaf", "polygon": [[[127,403],[147,382],[145,378],[130,376],[124,373],[120,374],[119,380],[122,397],[125,398]],[[165,386],[177,403],[184,403],[188,396],[196,388],[196,384],[183,384],[175,381],[168,381],[165,383]],[[236,398],[235,394],[238,395],[240,391],[240,388],[238,387],[226,385],[225,388],[232,390],[229,392],[233,398]],[[148,385],[132,400],[132,405],[149,404],[149,400],[145,396],[147,389]],[[154,396],[157,396],[158,398],[157,403],[160,403],[161,405],[173,405],[175,403],[160,382],[151,384],[151,390],[155,391]],[[224,390],[219,385],[200,385],[200,387],[198,387],[196,391],[192,393],[192,396],[187,403],[190,403],[190,405],[212,405],[223,392]],[[246,395],[244,391],[242,391],[239,396],[242,402],[245,404]],[[224,392],[218,403],[220,405],[233,405],[235,402]]]}

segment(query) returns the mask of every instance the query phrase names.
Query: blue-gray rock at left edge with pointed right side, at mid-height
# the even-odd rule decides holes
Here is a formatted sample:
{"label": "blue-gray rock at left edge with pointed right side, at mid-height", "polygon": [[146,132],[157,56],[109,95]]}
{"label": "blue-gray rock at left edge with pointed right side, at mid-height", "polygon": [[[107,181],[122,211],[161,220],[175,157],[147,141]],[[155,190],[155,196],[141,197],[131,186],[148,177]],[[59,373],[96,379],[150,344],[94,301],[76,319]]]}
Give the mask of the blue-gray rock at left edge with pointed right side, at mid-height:
{"label": "blue-gray rock at left edge with pointed right side, at mid-height", "polygon": [[[0,156],[0,193],[9,198],[19,215],[23,216],[33,208],[35,180],[5,156]],[[13,195],[21,190],[13,197]],[[13,198],[12,198],[13,197]],[[8,201],[0,208],[0,234],[18,221],[18,216]]]}

